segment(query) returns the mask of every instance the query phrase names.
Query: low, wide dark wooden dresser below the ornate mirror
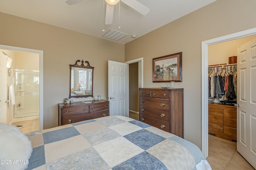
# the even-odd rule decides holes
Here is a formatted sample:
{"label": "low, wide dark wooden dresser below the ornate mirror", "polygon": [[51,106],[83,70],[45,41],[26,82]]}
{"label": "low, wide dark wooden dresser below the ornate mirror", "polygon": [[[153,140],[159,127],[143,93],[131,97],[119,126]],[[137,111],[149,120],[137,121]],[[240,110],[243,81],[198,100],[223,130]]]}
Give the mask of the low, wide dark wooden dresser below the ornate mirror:
{"label": "low, wide dark wooden dresser below the ornate mirror", "polygon": [[92,103],[74,102],[72,104],[59,103],[59,126],[98,117],[109,116],[109,102],[107,100],[88,101]]}

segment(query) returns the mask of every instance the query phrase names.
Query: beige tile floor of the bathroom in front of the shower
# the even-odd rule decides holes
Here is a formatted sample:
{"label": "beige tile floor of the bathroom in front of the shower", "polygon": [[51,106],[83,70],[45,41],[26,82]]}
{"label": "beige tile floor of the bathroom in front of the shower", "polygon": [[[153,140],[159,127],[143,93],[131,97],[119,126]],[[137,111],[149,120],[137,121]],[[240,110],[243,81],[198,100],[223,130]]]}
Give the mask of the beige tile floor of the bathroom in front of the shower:
{"label": "beige tile floor of the bathroom in front of the shower", "polygon": [[13,122],[12,125],[24,125],[24,127],[20,128],[23,133],[39,131],[39,119]]}

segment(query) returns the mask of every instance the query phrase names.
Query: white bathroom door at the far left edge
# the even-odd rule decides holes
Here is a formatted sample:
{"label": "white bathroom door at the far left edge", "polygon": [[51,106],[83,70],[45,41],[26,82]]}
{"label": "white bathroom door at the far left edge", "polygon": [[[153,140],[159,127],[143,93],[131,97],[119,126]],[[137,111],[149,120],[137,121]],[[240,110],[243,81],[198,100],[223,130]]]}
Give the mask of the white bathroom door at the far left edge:
{"label": "white bathroom door at the far left edge", "polygon": [[6,55],[0,52],[0,123],[6,123]]}

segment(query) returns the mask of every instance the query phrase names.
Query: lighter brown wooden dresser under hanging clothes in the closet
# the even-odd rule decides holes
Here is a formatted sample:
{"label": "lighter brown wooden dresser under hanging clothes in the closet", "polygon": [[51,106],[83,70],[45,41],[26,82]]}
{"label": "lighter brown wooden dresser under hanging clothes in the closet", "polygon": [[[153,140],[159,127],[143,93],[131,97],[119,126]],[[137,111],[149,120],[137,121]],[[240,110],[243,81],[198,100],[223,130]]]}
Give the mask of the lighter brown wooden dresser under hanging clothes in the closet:
{"label": "lighter brown wooden dresser under hanging clothes in the closet", "polygon": [[208,104],[209,133],[236,141],[236,107],[218,103]]}

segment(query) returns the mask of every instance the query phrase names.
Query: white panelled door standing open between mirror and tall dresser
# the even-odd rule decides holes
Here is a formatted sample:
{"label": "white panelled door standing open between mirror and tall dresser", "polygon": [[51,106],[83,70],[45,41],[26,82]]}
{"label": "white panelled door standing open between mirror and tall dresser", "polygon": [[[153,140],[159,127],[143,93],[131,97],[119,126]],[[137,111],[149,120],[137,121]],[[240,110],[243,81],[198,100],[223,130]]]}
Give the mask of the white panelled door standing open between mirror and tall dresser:
{"label": "white panelled door standing open between mirror and tall dresser", "polygon": [[108,61],[110,115],[129,117],[128,83],[128,64]]}

